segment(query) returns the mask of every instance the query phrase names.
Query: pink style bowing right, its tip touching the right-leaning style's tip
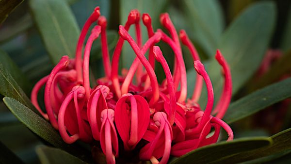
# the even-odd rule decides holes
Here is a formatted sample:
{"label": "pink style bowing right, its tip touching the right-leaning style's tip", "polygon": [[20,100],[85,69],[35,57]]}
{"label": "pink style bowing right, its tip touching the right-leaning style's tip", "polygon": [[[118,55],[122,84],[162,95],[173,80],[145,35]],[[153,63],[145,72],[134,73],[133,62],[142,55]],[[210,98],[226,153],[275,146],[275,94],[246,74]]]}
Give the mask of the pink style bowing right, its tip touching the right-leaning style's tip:
{"label": "pink style bowing right, its tip touching the right-leaning style's tip", "polygon": [[[162,33],[162,41],[167,43],[173,49],[176,55],[177,65],[179,67],[179,73],[180,73],[179,77],[181,77],[180,79],[181,80],[181,93],[178,98],[178,102],[183,102],[187,98],[187,74],[186,74],[186,68],[185,68],[185,63],[184,63],[181,49],[177,47],[175,42],[169,36],[167,36],[161,30],[158,30],[158,31]],[[174,76],[174,84],[175,84],[175,76]]]}

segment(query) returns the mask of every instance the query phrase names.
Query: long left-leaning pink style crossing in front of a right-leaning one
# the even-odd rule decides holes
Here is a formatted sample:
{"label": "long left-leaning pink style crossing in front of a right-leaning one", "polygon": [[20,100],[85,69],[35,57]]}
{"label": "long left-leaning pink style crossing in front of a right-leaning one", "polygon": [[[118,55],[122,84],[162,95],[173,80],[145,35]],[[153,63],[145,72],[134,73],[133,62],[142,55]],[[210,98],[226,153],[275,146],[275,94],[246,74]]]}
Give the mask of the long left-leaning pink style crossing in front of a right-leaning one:
{"label": "long left-leaning pink style crossing in front of a right-leaning one", "polygon": [[151,81],[151,86],[152,86],[152,91],[153,91],[153,97],[150,100],[149,104],[150,104],[150,106],[154,105],[159,100],[159,97],[160,97],[157,76],[156,76],[153,68],[148,63],[146,57],[142,54],[141,49],[139,49],[138,45],[134,42],[132,37],[129,35],[129,33],[126,31],[126,29],[122,25],[119,26],[119,35],[123,39],[125,39],[129,42],[129,45],[131,46],[131,48],[133,49],[133,51],[135,52],[135,54],[137,55],[137,57],[139,58],[141,63],[145,66],[146,71],[147,71],[149,78],[150,78],[150,81]]}

